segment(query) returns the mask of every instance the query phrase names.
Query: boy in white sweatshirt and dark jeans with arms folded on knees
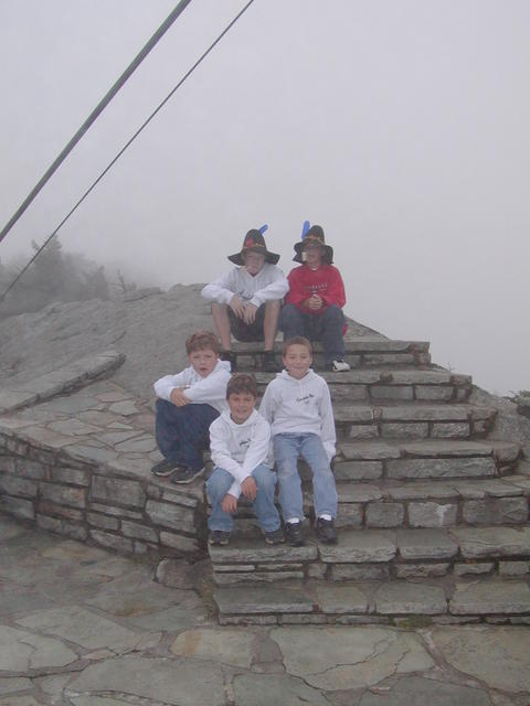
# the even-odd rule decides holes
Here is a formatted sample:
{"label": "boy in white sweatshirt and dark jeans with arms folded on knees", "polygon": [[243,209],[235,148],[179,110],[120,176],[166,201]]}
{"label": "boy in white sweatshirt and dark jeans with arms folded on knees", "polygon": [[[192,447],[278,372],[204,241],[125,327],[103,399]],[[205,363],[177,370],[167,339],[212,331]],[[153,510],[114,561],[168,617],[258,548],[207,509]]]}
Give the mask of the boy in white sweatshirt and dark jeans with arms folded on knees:
{"label": "boy in white sweatshirt and dark jeans with arms folded on knees", "polygon": [[219,341],[211,331],[197,331],[186,342],[190,367],[155,383],[157,442],[162,461],[151,471],[190,483],[204,472],[208,430],[226,408],[230,363],[219,360]]}

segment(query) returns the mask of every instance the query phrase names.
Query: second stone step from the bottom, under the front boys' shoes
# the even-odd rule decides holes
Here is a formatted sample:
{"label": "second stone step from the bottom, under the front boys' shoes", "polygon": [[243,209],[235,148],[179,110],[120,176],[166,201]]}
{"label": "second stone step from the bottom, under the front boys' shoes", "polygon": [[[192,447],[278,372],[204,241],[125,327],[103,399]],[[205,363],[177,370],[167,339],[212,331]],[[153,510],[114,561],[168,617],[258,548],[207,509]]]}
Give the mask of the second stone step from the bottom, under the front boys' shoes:
{"label": "second stone step from the bottom, under the front boys' shoes", "polygon": [[301,547],[269,546],[257,534],[235,534],[227,546],[210,546],[216,586],[308,579],[530,578],[528,525],[342,530],[336,545],[319,543],[312,530],[304,531]]}

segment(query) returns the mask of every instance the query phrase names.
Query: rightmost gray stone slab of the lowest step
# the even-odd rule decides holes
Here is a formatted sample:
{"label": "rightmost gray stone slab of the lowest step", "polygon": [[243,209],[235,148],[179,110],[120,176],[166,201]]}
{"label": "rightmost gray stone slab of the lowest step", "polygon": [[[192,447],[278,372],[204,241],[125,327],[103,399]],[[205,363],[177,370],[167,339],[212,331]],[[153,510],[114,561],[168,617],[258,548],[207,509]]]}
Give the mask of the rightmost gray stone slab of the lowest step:
{"label": "rightmost gray stone slab of the lowest step", "polygon": [[500,579],[457,584],[449,611],[454,616],[530,613],[530,588],[524,581]]}

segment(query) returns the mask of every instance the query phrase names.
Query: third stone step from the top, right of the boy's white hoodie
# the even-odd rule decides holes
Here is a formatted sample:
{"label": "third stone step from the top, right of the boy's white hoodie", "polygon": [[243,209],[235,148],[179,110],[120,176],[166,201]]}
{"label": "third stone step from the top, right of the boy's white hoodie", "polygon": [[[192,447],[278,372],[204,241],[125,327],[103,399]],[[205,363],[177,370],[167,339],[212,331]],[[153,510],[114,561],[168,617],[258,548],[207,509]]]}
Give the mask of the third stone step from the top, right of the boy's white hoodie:
{"label": "third stone step from the top, right of the boy's white hoodie", "polygon": [[337,437],[362,440],[401,439],[469,439],[484,437],[494,427],[497,410],[467,404],[410,402],[402,404],[333,405]]}

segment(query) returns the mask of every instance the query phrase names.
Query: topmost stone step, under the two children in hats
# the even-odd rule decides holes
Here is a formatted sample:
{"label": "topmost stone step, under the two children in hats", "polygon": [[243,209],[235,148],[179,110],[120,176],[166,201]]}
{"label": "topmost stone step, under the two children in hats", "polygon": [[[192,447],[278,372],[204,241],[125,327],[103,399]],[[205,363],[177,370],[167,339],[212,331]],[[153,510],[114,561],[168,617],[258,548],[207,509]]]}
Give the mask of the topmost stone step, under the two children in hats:
{"label": "topmost stone step, under the two children in hats", "polygon": [[[382,338],[344,338],[346,357],[352,367],[390,366],[423,366],[431,364],[426,341],[391,341]],[[274,351],[282,355],[283,342],[276,340]],[[248,367],[259,370],[262,365],[263,343],[232,342],[232,350],[237,354],[237,365],[241,370]],[[322,347],[319,342],[314,344],[314,360],[316,364],[322,362]]]}

